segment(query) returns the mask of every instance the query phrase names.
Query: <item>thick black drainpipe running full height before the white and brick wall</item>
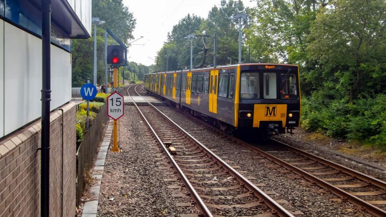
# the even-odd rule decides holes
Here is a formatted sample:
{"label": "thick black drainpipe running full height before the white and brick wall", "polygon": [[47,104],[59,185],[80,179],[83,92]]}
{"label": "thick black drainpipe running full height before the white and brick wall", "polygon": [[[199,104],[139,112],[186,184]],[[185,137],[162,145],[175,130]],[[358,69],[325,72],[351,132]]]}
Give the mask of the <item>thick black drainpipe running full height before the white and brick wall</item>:
{"label": "thick black drainpipe running full height before the white and brick wall", "polygon": [[42,131],[41,131],[41,217],[49,217],[49,137],[51,101],[51,0],[42,0]]}

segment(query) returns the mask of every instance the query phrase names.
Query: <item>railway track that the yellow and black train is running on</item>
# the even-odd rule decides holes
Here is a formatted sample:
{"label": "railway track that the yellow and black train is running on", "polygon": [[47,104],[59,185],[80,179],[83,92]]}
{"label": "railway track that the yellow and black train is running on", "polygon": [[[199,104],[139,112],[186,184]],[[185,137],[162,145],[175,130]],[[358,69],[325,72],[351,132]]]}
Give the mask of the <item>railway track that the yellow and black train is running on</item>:
{"label": "railway track that the yellow and black train is running on", "polygon": [[[271,143],[280,146],[279,150],[263,151],[245,141],[237,139],[192,117],[200,124],[209,127],[229,139],[253,150],[257,162],[274,164],[285,173],[295,173],[314,185],[322,187],[321,193],[333,193],[335,201],[348,201],[372,215],[386,216],[386,182],[340,164],[308,153],[283,142],[271,139]],[[281,170],[285,168],[286,170]]]}

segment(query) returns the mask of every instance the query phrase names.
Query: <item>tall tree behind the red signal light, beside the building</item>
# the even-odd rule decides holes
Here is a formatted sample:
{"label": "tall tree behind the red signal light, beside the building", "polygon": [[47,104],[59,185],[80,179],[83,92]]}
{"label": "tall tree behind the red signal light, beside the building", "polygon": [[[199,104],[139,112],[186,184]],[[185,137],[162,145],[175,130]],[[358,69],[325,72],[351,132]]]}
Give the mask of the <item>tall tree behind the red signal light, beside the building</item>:
{"label": "tall tree behind the red signal light, beside the building", "polygon": [[[101,83],[105,80],[105,28],[109,28],[121,41],[127,43],[129,39],[133,38],[135,19],[129,12],[129,8],[123,5],[122,0],[93,0],[92,17],[99,17],[100,20],[106,22],[103,26],[97,26],[97,83]],[[91,31],[94,31],[94,25]],[[109,37],[108,44],[116,44],[116,42]],[[93,47],[93,37],[72,40],[73,86],[81,86],[86,82],[86,78],[93,78]]]}

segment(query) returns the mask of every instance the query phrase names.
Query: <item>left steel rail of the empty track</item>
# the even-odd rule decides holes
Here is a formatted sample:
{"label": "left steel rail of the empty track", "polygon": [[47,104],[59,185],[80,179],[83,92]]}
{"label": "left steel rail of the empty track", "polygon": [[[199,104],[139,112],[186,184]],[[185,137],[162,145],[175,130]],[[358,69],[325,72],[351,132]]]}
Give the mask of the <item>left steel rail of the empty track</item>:
{"label": "left steel rail of the empty track", "polygon": [[[141,85],[141,84],[139,84]],[[135,85],[134,87],[134,91],[135,93],[137,93],[139,95],[139,93],[137,92],[137,90],[135,88],[137,88],[137,86],[139,85]],[[134,85],[133,85],[134,86]],[[174,160],[173,156],[171,156],[171,154],[169,153],[168,149],[166,148],[166,146],[164,145],[164,143],[161,141],[161,139],[159,138],[159,136],[157,135],[157,133],[154,131],[153,127],[150,125],[150,123],[147,121],[146,117],[144,114],[142,114],[141,110],[139,109],[139,107],[137,106],[137,103],[134,102],[134,99],[132,96],[130,96],[129,94],[129,89],[131,88],[132,86],[130,86],[129,88],[127,88],[127,94],[129,95],[129,97],[131,97],[131,99],[133,100],[133,103],[135,105],[135,107],[137,108],[138,112],[141,114],[142,118],[145,120],[147,126],[150,128],[151,132],[153,133],[153,135],[156,137],[157,141],[159,142],[159,144],[161,144],[163,150],[164,150],[164,153],[166,154],[166,156],[169,158],[169,161],[171,162],[171,164],[173,165],[174,169],[177,171],[177,174],[178,176],[181,178],[181,181],[185,184],[185,186],[189,189],[190,191],[190,197],[196,202],[196,205],[197,205],[197,209],[202,212],[202,214],[204,214],[205,216],[207,217],[213,217],[212,213],[210,212],[210,210],[208,209],[207,205],[205,205],[205,203],[203,202],[202,198],[200,197],[200,195],[198,195],[198,193],[196,192],[196,190],[194,189],[193,185],[190,183],[190,181],[188,180],[188,178],[185,176],[185,174],[183,173],[183,171],[181,170],[181,168],[179,168],[178,164],[176,163],[176,161]],[[139,95],[141,96],[141,95]],[[142,97],[144,98],[144,97]],[[147,100],[146,100],[147,103],[149,103]],[[150,104],[150,103],[149,103]],[[202,214],[199,214],[199,215],[202,215]]]}

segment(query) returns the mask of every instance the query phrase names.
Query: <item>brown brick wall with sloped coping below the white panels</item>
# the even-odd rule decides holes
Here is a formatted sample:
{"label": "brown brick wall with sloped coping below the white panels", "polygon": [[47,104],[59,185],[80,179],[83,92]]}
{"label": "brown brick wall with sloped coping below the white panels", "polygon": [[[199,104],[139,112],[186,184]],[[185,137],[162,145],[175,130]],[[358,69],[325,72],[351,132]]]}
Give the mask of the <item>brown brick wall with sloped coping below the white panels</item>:
{"label": "brown brick wall with sloped coping below the white panels", "polygon": [[[63,216],[74,216],[76,199],[76,105],[63,107]],[[62,126],[51,112],[50,216],[62,215]],[[40,216],[40,120],[0,140],[0,216]]]}

